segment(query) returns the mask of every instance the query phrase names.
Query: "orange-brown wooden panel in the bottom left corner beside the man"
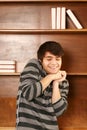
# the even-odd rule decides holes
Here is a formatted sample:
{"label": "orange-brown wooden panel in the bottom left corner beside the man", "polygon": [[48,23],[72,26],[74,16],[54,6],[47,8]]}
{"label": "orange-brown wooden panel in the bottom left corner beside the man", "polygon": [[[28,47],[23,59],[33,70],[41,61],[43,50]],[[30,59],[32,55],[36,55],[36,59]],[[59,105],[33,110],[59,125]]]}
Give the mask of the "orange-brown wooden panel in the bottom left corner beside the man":
{"label": "orange-brown wooden panel in the bottom left corner beside the man", "polygon": [[16,99],[0,97],[0,127],[15,127]]}

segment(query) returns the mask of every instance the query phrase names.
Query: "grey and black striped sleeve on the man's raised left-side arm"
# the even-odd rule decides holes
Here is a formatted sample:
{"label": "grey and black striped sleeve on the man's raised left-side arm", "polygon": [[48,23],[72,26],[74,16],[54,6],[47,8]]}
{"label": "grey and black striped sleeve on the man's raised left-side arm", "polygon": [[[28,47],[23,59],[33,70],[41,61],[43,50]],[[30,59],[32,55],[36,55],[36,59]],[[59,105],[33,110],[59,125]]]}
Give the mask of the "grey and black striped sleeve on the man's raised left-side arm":
{"label": "grey and black striped sleeve on the man's raised left-side arm", "polygon": [[42,93],[42,84],[39,81],[39,68],[35,61],[29,62],[20,76],[20,87],[22,96],[30,101]]}

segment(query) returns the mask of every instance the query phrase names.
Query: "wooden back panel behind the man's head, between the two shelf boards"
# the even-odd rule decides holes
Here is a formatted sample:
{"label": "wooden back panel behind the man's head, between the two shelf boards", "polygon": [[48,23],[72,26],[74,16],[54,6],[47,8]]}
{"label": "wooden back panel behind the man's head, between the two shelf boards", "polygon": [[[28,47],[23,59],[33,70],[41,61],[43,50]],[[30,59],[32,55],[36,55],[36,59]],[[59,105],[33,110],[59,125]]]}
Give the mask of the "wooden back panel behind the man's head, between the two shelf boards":
{"label": "wooden back panel behind the man's head, between the two shelf boards", "polygon": [[[87,34],[0,35],[0,59],[26,64],[36,57],[39,45],[47,40],[60,42],[65,50],[63,68],[69,73],[87,73]],[[23,66],[24,67],[24,66]],[[22,69],[21,69],[22,70]]]}

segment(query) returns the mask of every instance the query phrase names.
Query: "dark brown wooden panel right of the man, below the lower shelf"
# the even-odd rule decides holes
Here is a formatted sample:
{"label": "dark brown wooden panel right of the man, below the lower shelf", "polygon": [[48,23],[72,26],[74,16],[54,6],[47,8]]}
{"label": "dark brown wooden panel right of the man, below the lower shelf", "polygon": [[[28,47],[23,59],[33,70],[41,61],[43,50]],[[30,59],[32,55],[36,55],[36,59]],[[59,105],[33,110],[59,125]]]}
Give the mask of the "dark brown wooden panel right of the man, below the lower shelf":
{"label": "dark brown wooden panel right of the man, below the lower shelf", "polygon": [[[69,76],[69,106],[58,118],[59,126],[87,129],[87,76]],[[84,130],[83,129],[83,130]]]}

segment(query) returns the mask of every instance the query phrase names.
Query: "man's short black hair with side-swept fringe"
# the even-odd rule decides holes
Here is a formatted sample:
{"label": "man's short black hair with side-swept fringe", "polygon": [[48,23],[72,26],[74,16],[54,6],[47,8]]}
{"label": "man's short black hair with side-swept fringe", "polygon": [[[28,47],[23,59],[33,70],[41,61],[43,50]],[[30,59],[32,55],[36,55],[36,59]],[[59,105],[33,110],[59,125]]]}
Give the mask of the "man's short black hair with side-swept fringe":
{"label": "man's short black hair with side-swept fringe", "polygon": [[50,52],[51,54],[59,57],[62,57],[64,55],[64,50],[62,46],[60,45],[60,43],[55,41],[46,41],[42,45],[40,45],[37,51],[38,59],[42,61],[46,52]]}

